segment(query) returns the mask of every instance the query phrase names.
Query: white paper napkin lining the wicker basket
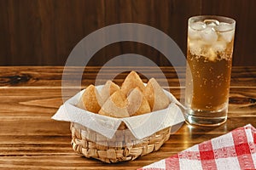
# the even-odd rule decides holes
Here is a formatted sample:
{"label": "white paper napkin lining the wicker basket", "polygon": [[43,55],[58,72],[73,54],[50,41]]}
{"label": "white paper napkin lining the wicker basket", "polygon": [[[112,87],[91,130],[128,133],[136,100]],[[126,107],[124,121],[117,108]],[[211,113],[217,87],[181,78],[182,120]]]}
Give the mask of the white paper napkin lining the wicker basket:
{"label": "white paper napkin lining the wicker basket", "polygon": [[[100,91],[102,86],[97,86],[96,88]],[[172,101],[168,108],[140,116],[125,118],[102,116],[76,107],[83,93],[84,90],[73,96],[73,98],[68,99],[61,105],[55,115],[52,116],[52,119],[57,121],[77,122],[84,127],[89,127],[97,133],[101,133],[108,139],[113,138],[121,122],[125,122],[126,126],[137,139],[143,139],[161,129],[184,122],[183,113],[179,108],[179,106],[183,106],[167,91],[165,91],[165,93]]]}

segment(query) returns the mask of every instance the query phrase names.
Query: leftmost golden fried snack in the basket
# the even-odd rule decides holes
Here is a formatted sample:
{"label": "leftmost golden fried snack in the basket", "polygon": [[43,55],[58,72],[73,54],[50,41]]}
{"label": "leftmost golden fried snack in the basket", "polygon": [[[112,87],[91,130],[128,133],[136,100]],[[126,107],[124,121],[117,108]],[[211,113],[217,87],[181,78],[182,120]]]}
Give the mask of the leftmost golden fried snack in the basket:
{"label": "leftmost golden fried snack in the basket", "polygon": [[77,106],[81,109],[85,109],[86,111],[97,113],[101,109],[101,100],[101,96],[96,90],[95,86],[90,85],[85,88],[84,94],[82,94]]}

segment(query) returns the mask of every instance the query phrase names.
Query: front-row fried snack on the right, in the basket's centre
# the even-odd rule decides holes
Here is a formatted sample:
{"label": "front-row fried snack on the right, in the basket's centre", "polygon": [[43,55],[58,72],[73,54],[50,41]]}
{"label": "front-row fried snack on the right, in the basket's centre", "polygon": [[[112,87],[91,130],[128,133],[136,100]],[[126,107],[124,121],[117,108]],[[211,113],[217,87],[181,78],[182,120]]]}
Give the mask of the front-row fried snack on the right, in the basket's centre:
{"label": "front-row fried snack on the right, in the basket's centre", "polygon": [[142,115],[151,111],[148,100],[143,96],[139,88],[134,88],[127,97],[127,100],[127,111],[130,116]]}

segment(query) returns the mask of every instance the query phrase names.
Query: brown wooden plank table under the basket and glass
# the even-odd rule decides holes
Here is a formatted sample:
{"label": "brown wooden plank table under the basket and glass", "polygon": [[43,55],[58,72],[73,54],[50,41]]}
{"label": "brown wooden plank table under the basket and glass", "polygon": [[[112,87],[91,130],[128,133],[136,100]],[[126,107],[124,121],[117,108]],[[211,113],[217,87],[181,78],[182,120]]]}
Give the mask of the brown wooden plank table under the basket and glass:
{"label": "brown wooden plank table under the basket and glass", "polygon": [[[98,67],[86,67],[83,85],[94,83]],[[109,68],[109,71],[114,68]],[[183,68],[181,68],[183,69]],[[214,128],[185,123],[159,151],[135,161],[106,164],[77,155],[71,145],[69,122],[50,119],[62,104],[63,67],[0,67],[0,167],[10,169],[136,169],[212,139],[236,127],[256,127],[256,66],[233,67],[228,121]],[[170,90],[180,87],[172,67],[161,67]],[[145,68],[154,76],[154,69]],[[71,74],[74,74],[71,71]],[[110,74],[110,73],[109,73]],[[125,75],[116,77],[122,82]]]}

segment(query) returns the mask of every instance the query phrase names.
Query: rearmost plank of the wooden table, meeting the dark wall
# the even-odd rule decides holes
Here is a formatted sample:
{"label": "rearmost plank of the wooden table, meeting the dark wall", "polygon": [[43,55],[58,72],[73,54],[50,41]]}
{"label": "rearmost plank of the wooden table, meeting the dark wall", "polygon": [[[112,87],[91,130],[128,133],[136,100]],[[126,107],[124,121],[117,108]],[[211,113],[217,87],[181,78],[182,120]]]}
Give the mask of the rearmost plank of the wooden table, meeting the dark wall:
{"label": "rearmost plank of the wooden table, meeting the dark wall", "polygon": [[[8,70],[7,70],[8,69]],[[98,70],[101,67],[86,67],[84,70],[84,76],[82,78],[82,88],[89,84],[95,83],[95,79]],[[119,72],[119,67],[108,67],[104,69],[105,79],[102,78],[102,83],[105,83],[109,78],[113,77],[116,72]],[[141,69],[145,74],[150,73],[151,77],[158,78],[159,72],[157,69],[142,67],[133,68],[128,70]],[[160,67],[164,72],[166,79],[170,87],[179,87],[179,81],[177,80],[176,71],[172,67]],[[121,69],[120,69],[121,70]],[[1,67],[0,68],[0,88],[2,87],[44,87],[44,88],[56,88],[61,87],[63,67]],[[184,82],[185,69],[184,67],[177,67],[177,72],[180,72],[181,82]],[[78,76],[78,68],[69,67],[67,71],[70,75],[69,86],[73,87],[73,77]],[[127,73],[119,74],[114,79],[119,85],[123,82]],[[231,87],[256,87],[256,69],[255,67],[234,67],[231,75]],[[143,77],[143,81],[147,82],[146,77]],[[165,79],[158,80],[161,83],[166,81]],[[68,87],[67,87],[68,88]]]}

